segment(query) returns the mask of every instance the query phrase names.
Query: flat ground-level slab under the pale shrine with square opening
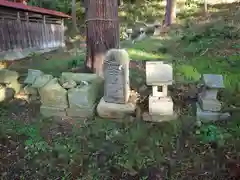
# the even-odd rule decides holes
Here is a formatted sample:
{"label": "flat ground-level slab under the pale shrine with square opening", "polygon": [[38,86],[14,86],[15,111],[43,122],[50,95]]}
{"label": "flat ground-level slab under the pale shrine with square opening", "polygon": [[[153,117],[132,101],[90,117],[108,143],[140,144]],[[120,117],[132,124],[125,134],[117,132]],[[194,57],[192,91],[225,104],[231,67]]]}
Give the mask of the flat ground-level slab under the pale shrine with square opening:
{"label": "flat ground-level slab under the pale shrine with square opening", "polygon": [[142,118],[144,121],[149,122],[165,122],[177,119],[177,115],[174,113],[172,115],[150,115],[149,113],[143,113]]}

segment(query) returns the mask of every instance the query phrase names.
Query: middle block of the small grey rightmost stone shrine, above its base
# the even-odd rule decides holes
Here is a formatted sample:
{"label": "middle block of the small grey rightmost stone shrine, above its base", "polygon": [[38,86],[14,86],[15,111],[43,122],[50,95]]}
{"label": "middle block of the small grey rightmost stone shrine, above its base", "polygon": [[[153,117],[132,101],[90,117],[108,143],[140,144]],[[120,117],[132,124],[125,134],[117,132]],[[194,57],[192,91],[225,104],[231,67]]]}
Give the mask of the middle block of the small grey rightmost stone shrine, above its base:
{"label": "middle block of the small grey rightmost stone shrine, above its base", "polygon": [[199,97],[199,105],[204,111],[218,112],[222,108],[221,102],[217,99],[206,99],[203,97]]}

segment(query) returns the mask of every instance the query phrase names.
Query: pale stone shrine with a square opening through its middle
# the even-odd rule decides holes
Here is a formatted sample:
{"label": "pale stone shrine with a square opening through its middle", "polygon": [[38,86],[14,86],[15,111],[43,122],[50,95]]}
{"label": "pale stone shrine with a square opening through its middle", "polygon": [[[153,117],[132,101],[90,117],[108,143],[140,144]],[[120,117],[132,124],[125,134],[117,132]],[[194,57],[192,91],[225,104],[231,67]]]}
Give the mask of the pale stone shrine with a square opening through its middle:
{"label": "pale stone shrine with a square opening through its middle", "polygon": [[146,63],[146,81],[152,86],[152,95],[149,96],[149,114],[143,114],[144,120],[159,122],[174,119],[173,101],[168,95],[168,85],[173,82],[172,71],[170,64],[161,61]]}

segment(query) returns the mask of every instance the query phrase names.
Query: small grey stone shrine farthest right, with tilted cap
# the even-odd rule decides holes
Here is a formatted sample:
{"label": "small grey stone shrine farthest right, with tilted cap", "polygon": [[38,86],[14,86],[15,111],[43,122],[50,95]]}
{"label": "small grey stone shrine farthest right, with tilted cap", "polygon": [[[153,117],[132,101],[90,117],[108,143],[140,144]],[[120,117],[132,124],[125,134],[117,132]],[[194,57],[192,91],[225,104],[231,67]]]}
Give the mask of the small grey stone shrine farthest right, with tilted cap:
{"label": "small grey stone shrine farthest right, with tilted cap", "polygon": [[198,97],[197,120],[208,122],[228,118],[230,114],[221,113],[222,103],[217,99],[218,90],[224,88],[223,76],[204,74],[202,81],[205,88]]}

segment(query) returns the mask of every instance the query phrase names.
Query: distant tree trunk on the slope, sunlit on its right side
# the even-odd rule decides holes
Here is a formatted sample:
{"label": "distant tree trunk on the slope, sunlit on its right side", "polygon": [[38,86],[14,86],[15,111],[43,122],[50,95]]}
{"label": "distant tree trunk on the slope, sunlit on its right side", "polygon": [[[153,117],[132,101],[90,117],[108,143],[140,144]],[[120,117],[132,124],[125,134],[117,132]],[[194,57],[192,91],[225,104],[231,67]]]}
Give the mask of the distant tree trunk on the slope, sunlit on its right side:
{"label": "distant tree trunk on the slope, sunlit on its right side", "polygon": [[176,18],[176,0],[167,0],[164,25],[170,26]]}

